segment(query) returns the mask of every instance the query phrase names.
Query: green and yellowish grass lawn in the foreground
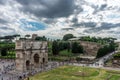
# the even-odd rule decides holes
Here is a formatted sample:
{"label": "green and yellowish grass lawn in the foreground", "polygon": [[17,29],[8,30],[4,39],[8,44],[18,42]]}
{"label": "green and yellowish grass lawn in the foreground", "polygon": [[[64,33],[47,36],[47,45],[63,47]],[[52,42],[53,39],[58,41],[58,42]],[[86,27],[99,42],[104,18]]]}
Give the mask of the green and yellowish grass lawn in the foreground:
{"label": "green and yellowish grass lawn in the foreground", "polygon": [[[120,80],[120,74],[104,69],[79,66],[62,66],[30,77],[30,80]],[[118,73],[119,71],[117,71]]]}

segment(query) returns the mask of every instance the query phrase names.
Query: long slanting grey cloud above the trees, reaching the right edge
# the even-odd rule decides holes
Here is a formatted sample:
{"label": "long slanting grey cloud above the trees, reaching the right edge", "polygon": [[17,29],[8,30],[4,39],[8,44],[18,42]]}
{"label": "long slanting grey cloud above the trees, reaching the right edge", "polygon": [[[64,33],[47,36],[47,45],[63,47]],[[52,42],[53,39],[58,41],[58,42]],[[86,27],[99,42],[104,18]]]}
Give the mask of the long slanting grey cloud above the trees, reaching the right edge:
{"label": "long slanting grey cloud above the trees, reaching the right edge", "polygon": [[95,28],[91,28],[91,29],[87,29],[85,30],[86,33],[91,33],[91,32],[99,32],[102,30],[109,30],[115,27],[120,27],[120,23],[117,24],[113,24],[113,23],[101,23],[101,26],[99,27],[95,27]]}

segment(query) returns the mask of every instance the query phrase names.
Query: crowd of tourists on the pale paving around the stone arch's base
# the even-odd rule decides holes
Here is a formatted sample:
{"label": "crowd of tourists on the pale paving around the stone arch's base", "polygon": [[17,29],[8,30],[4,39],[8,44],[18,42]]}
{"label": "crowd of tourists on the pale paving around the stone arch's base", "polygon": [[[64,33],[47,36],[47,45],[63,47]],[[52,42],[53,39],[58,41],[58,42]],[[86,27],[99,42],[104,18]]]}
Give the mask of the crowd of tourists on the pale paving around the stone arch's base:
{"label": "crowd of tourists on the pale paving around the stone arch's base", "polygon": [[59,66],[77,65],[77,64],[80,65],[79,63],[72,63],[72,62],[49,61],[46,65],[41,66],[40,68],[29,70],[24,73],[20,73],[15,70],[14,60],[1,59],[0,60],[0,80],[23,80],[25,78],[28,78],[30,75],[34,75],[36,73],[40,73],[43,71],[48,71],[48,70],[57,68]]}

